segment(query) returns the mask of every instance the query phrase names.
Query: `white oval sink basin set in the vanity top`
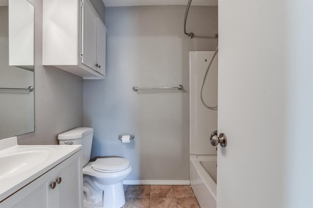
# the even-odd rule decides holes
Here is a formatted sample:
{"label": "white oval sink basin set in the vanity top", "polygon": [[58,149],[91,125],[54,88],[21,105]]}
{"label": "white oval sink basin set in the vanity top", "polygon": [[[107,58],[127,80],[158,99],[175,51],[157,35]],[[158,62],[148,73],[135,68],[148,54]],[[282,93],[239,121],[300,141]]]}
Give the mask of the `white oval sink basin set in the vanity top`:
{"label": "white oval sink basin set in the vanity top", "polygon": [[48,147],[27,147],[0,152],[0,179],[21,174],[48,160],[55,151]]}

